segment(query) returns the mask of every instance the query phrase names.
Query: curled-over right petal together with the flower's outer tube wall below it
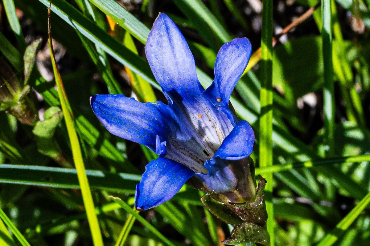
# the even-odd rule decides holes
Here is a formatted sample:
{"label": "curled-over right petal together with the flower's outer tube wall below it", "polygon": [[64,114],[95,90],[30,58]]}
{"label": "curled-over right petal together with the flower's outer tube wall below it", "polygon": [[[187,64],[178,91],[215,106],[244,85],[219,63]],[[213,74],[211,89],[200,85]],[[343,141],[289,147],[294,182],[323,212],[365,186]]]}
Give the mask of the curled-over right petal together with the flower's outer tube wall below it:
{"label": "curled-over right petal together with the flower's outer tube wall below it", "polygon": [[[250,160],[255,136],[246,121],[240,121],[223,140],[215,156],[205,162],[208,174],[196,174],[206,190],[216,194],[228,194],[231,202],[253,200],[255,185],[250,173]],[[243,180],[240,183],[238,180]],[[235,191],[235,192],[234,192]],[[238,191],[238,192],[236,192]]]}

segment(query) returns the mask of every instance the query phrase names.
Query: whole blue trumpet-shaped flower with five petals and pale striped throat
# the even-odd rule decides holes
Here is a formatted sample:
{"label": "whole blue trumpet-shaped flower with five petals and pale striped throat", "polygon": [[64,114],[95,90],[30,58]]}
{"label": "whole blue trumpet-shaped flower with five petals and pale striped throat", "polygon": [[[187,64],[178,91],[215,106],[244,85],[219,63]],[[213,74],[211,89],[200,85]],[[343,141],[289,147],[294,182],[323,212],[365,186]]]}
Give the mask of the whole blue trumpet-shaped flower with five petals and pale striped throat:
{"label": "whole blue trumpet-shaped flower with five petals and pale striped throat", "polygon": [[248,64],[247,38],[225,43],[216,57],[215,79],[203,89],[194,57],[175,23],[159,14],[145,54],[168,99],[137,102],[124,95],[95,95],[91,107],[112,134],[144,144],[159,155],[136,187],[135,206],[149,209],[171,199],[188,181],[233,203],[254,201],[249,170],[252,127],[229,109],[229,98]]}

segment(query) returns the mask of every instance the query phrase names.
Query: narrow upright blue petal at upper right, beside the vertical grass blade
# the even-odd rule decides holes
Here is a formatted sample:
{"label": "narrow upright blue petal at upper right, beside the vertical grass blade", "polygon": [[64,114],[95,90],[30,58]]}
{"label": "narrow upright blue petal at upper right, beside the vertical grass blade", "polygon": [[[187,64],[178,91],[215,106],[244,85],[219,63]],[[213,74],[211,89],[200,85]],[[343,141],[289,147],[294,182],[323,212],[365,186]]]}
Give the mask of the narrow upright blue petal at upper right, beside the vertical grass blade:
{"label": "narrow upright blue petal at upper right, beside the vertical grass blade", "polygon": [[[247,38],[235,38],[222,45],[216,57],[215,80],[207,88],[215,105],[229,105],[231,93],[249,62],[251,51]],[[221,102],[217,102],[217,98]]]}

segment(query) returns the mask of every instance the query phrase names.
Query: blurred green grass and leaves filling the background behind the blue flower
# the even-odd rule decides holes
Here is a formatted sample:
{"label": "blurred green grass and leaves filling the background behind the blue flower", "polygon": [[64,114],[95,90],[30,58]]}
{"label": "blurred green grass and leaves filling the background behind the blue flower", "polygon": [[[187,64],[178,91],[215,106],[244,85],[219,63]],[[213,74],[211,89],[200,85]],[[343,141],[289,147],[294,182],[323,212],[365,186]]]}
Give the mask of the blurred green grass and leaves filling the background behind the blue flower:
{"label": "blurred green grass and leaves filling the background behind the blue flower", "polygon": [[[274,165],[258,168],[258,141],[252,155],[256,174],[273,172],[268,182],[274,187],[276,245],[370,245],[370,1],[330,4],[335,124],[325,129],[321,5],[273,1],[274,35],[316,9],[277,37]],[[144,55],[151,25],[163,12],[188,41],[203,86],[211,83],[221,45],[249,38],[256,65],[240,79],[231,102],[258,136],[262,2],[53,0],[55,58],[101,232],[89,228],[89,202],[84,199],[84,205],[80,190],[86,184],[75,169],[76,141],[63,119],[70,112],[62,110],[55,87],[48,5],[47,0],[0,3],[0,245],[92,245],[91,233],[102,233],[104,245],[219,245],[231,228],[206,211],[202,194],[186,185],[155,209],[132,210],[135,184],[156,157],[109,134],[92,113],[89,97],[123,93],[141,102],[165,102]],[[333,146],[326,144],[328,130]],[[101,245],[99,239],[94,245]]]}

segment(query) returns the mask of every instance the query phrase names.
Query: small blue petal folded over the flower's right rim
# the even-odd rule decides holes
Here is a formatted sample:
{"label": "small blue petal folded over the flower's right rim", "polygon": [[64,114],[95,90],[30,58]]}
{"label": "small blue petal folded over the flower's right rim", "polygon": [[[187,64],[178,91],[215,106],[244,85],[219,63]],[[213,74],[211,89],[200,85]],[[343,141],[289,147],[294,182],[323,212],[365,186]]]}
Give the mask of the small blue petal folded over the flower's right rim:
{"label": "small blue petal folded over the flower's right rim", "polygon": [[226,160],[240,160],[250,156],[255,143],[254,131],[245,120],[238,122],[223,140],[215,156]]}

